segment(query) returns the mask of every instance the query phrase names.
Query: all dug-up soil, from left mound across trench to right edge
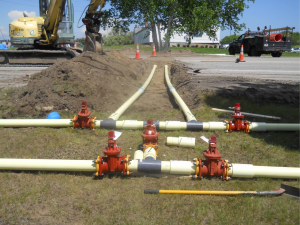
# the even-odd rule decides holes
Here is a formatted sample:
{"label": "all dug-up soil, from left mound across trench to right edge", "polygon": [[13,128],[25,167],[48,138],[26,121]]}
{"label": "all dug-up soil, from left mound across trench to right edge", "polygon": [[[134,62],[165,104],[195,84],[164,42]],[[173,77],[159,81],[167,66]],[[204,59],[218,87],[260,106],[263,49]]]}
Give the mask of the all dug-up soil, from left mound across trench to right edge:
{"label": "all dug-up soil, from left mound across trench to right edge", "polygon": [[112,113],[141,87],[154,64],[158,67],[151,83],[127,113],[167,112],[178,108],[164,81],[164,65],[169,65],[171,82],[191,109],[201,107],[201,96],[207,92],[223,97],[242,96],[262,104],[300,105],[299,83],[296,82],[201,76],[180,61],[174,61],[173,50],[141,60],[125,56],[128,49],[121,53],[86,52],[31,75],[26,88],[16,92],[8,105],[0,105],[0,109],[14,109],[2,112],[1,116],[44,118],[49,111],[77,113],[83,100],[91,111]]}

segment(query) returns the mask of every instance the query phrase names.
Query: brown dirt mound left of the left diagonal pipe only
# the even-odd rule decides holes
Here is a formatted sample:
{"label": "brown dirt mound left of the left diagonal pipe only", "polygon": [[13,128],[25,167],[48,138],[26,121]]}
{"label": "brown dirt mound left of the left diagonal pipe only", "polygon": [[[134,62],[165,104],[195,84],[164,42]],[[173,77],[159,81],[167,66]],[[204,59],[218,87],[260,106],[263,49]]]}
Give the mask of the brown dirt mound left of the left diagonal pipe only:
{"label": "brown dirt mound left of the left diagonal pipe only", "polygon": [[[152,65],[117,51],[104,55],[85,52],[31,76],[18,95],[16,115],[45,115],[47,110],[77,113],[81,101],[90,110],[116,110],[143,84]],[[11,116],[16,116],[11,115]]]}

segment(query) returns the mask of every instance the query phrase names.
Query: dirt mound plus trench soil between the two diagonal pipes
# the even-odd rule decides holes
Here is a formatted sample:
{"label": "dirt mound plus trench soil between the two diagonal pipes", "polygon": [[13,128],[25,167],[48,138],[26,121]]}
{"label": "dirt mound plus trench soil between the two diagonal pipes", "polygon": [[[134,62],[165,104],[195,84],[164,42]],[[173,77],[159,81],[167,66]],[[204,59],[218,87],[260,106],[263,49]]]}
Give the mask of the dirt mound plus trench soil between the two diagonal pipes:
{"label": "dirt mound plus trench soil between the two diagonal pipes", "polygon": [[172,61],[172,57],[134,60],[118,51],[104,55],[85,52],[31,75],[26,88],[12,98],[14,110],[2,117],[44,118],[50,111],[77,114],[83,100],[91,111],[112,113],[142,86],[155,64],[151,83],[127,112],[167,111],[177,107],[164,82],[164,65]]}

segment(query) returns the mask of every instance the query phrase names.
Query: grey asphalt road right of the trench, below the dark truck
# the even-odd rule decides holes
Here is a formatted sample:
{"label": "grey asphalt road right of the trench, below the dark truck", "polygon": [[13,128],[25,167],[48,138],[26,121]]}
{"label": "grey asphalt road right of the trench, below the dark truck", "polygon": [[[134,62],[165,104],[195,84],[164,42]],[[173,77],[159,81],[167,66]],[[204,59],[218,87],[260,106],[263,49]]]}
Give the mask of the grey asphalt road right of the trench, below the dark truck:
{"label": "grey asphalt road right of the trench, below the dark truck", "polygon": [[300,81],[300,57],[273,58],[244,56],[246,62],[235,63],[236,56],[175,57],[186,66],[200,69],[201,76],[251,77],[269,80]]}

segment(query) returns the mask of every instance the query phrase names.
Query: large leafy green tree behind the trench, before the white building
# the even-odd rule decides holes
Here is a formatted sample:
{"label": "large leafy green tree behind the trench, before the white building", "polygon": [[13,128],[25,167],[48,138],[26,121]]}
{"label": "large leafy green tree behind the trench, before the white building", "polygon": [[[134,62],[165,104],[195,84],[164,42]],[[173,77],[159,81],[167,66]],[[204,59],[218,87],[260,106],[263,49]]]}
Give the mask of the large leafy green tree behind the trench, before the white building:
{"label": "large leafy green tree behind the trench, before the white building", "polygon": [[[167,50],[174,33],[184,32],[191,38],[194,33],[201,32],[213,37],[219,27],[240,31],[245,24],[239,24],[238,20],[248,7],[247,2],[254,0],[111,0],[112,8],[105,12],[102,22],[122,29],[126,24],[149,22],[156,47],[156,26],[159,34],[167,31],[164,36],[164,50]],[[126,23],[121,24],[124,19]]]}

